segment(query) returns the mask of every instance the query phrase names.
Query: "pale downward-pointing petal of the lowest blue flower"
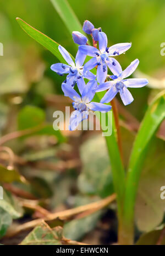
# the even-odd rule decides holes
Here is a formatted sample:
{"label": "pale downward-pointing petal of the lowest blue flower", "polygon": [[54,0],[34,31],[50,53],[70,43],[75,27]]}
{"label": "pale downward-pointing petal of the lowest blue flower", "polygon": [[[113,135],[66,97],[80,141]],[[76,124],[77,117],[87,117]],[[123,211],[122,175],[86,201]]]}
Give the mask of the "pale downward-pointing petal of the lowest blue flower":
{"label": "pale downward-pointing petal of the lowest blue flower", "polygon": [[78,127],[79,123],[88,117],[88,111],[80,112],[78,110],[73,111],[70,116],[69,130],[74,131]]}

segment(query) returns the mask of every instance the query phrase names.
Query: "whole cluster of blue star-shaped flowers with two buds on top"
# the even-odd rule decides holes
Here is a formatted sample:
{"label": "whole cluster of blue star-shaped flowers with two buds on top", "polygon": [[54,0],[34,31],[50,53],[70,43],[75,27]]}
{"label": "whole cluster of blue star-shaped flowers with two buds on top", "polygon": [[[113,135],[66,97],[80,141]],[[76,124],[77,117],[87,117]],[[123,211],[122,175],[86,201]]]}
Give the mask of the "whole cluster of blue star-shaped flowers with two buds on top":
{"label": "whole cluster of blue star-shaped flowers with two buds on top", "polygon": [[[92,36],[94,46],[87,44],[88,39],[86,36],[78,31],[73,31],[73,41],[79,45],[75,62],[69,52],[59,45],[58,49],[68,64],[56,63],[51,66],[51,69],[60,76],[68,74],[62,83],[62,90],[65,96],[73,100],[73,108],[75,109],[70,117],[70,130],[75,130],[83,119],[87,119],[89,110],[106,112],[111,110],[111,106],[105,103],[111,102],[118,92],[124,105],[130,104],[134,99],[128,87],[138,88],[148,83],[145,78],[127,78],[138,67],[138,59],[131,62],[122,71],[120,63],[114,58],[129,50],[130,43],[121,43],[108,47],[107,35],[102,32],[101,28],[96,29],[88,20],[84,22],[83,31]],[[97,49],[97,41],[99,49]],[[84,64],[86,56],[90,56],[90,60]],[[96,68],[96,74],[91,72],[93,68]],[[108,74],[108,68],[112,75]],[[85,83],[84,78],[89,82]],[[74,89],[76,84],[81,97]],[[106,93],[100,103],[91,102],[96,92],[104,90]]]}

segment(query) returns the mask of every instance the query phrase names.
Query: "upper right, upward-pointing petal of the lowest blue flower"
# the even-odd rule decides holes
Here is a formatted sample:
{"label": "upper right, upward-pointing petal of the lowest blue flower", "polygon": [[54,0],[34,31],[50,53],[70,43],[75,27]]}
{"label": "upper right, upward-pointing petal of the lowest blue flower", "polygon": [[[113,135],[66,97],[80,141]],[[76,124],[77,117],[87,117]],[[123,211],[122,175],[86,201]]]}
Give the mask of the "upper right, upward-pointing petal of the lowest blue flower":
{"label": "upper right, upward-pointing petal of the lowest blue flower", "polygon": [[91,100],[94,98],[94,95],[95,95],[94,88],[96,88],[96,86],[97,86],[96,80],[91,80],[86,84],[82,93],[83,102],[85,103],[91,102]]}

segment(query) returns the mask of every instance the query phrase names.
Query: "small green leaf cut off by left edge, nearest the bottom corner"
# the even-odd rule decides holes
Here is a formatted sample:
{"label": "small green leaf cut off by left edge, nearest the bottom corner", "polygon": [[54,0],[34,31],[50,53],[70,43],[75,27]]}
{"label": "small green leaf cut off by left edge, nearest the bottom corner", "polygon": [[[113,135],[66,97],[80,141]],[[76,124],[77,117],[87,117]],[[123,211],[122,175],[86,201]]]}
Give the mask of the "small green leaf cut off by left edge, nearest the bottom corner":
{"label": "small green leaf cut off by left edge, nearest the bottom corner", "polygon": [[12,217],[0,207],[0,238],[4,236],[8,227],[12,224]]}

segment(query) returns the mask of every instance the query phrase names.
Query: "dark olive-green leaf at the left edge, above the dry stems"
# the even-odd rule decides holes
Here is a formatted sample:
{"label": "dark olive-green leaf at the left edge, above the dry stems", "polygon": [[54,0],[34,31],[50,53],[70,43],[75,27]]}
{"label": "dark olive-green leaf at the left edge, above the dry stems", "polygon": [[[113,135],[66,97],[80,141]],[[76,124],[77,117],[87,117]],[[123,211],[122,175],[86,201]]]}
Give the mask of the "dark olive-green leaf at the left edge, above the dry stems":
{"label": "dark olive-green leaf at the left edge, above the dry stems", "polygon": [[23,182],[23,179],[17,170],[8,170],[0,164],[0,182]]}

